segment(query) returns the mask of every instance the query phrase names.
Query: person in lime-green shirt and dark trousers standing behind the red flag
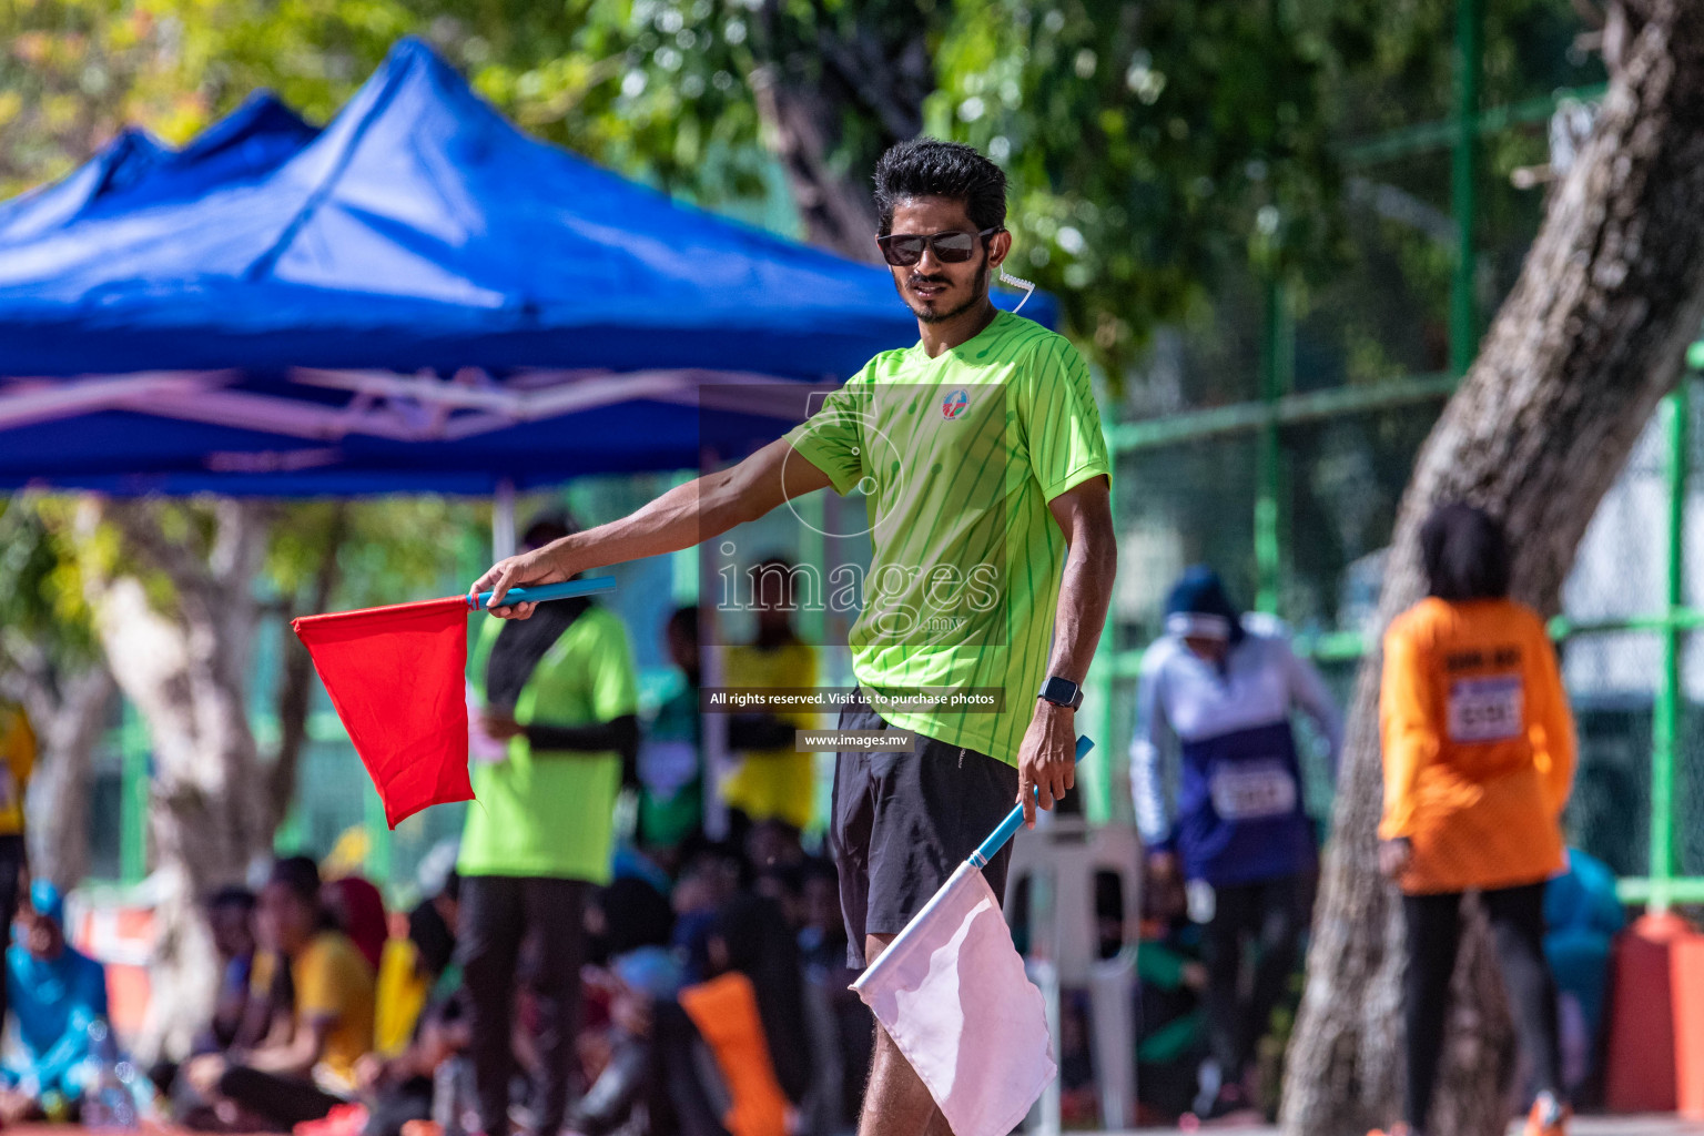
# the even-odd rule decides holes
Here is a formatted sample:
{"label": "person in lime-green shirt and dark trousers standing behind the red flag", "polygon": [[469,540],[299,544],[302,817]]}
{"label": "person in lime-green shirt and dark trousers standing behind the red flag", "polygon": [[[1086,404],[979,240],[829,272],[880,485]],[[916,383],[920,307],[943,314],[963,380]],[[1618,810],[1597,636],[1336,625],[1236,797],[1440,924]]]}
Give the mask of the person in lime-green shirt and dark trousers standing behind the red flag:
{"label": "person in lime-green shirt and dark trousers standing behind the red flag", "polygon": [[[537,521],[527,550],[567,538]],[[538,606],[527,623],[487,620],[470,659],[477,727],[501,746],[474,766],[462,833],[458,961],[469,991],[474,1087],[486,1136],[508,1136],[513,1008],[521,940],[537,950],[537,1133],[567,1109],[579,1025],[581,909],[610,882],[615,795],[639,746],[637,680],[620,620],[590,600]],[[491,753],[492,744],[475,753]]]}

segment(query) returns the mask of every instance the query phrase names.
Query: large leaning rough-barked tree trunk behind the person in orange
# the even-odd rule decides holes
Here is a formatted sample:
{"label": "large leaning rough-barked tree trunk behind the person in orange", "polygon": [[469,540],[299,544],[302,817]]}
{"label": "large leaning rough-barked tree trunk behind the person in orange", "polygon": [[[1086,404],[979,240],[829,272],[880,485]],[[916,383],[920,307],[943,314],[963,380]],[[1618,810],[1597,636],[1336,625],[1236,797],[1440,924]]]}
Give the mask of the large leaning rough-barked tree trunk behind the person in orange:
{"label": "large leaning rough-barked tree trunk behind the person in orange", "polygon": [[[1402,497],[1379,630],[1421,598],[1416,533],[1438,502],[1501,516],[1515,596],[1554,613],[1574,550],[1704,322],[1704,3],[1629,0],[1592,141],[1552,191],[1479,359]],[[1402,1088],[1402,920],[1375,863],[1380,656],[1356,681],[1283,1129],[1360,1136]],[[1433,1131],[1503,1131],[1508,1015],[1484,920],[1469,921]]]}

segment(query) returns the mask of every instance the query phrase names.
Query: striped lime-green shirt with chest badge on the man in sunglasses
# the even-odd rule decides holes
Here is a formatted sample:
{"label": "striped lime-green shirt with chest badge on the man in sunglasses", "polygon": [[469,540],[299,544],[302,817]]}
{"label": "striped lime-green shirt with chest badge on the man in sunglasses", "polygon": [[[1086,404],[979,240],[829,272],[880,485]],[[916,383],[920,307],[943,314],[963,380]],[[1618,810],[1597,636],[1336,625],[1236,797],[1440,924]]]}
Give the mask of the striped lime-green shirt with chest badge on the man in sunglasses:
{"label": "striped lime-green shirt with chest badge on the man in sunglasses", "polygon": [[1111,477],[1082,356],[1002,312],[935,359],[922,342],[876,356],[787,441],[837,492],[866,494],[874,555],[847,635],[859,685],[1002,688],[999,714],[878,709],[1016,765],[1065,564],[1048,501]]}

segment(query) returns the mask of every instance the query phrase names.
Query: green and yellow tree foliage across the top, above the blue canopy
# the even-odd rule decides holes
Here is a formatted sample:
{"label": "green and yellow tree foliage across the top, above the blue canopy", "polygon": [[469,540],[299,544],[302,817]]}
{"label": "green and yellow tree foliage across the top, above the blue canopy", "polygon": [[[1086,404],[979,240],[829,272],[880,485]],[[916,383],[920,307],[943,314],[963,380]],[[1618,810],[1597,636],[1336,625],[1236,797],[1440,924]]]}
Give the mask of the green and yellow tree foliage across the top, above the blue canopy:
{"label": "green and yellow tree foliage across the top, above the blue canopy", "polygon": [[[1568,0],[1484,7],[1488,104],[1600,78],[1571,48],[1581,26]],[[525,129],[729,208],[774,182],[763,92],[787,89],[826,107],[820,157],[859,191],[917,121],[983,146],[1012,179],[1012,269],[1062,298],[1068,329],[1116,376],[1227,271],[1317,295],[1372,271],[1343,223],[1333,155],[1447,118],[1455,12],[1455,0],[9,0],[0,191],[63,174],[123,123],[182,141],[256,87],[324,121],[412,32]],[[1489,145],[1488,244],[1530,233],[1535,194],[1508,191],[1506,174],[1542,157],[1542,129]],[[1447,155],[1367,175],[1448,209]],[[1448,249],[1384,230],[1389,255],[1375,261],[1414,278],[1406,310],[1442,318]],[[1496,273],[1493,290],[1510,269]],[[1367,341],[1390,315],[1344,318],[1360,324],[1346,339]],[[1387,366],[1365,342],[1353,354],[1358,373]]]}

